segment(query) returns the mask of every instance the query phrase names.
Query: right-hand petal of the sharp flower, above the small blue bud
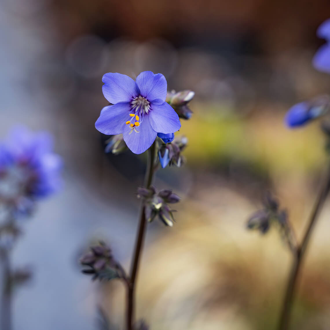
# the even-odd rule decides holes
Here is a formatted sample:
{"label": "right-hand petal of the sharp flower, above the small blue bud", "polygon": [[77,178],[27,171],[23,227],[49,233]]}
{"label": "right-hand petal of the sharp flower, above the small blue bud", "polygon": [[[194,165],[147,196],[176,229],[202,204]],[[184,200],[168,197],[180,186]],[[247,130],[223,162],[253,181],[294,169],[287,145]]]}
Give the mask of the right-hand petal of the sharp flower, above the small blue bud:
{"label": "right-hand petal of the sharp flower, above the small blue bud", "polygon": [[181,127],[178,114],[166,102],[161,105],[151,104],[148,116],[151,127],[158,133],[174,133]]}

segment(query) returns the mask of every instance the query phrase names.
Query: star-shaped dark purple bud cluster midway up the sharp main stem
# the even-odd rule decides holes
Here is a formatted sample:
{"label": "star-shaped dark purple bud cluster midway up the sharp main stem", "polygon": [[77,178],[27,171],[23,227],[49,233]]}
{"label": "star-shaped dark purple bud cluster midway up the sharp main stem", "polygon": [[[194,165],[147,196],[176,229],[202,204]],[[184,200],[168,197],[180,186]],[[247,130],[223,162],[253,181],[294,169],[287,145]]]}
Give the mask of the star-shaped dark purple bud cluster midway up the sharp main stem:
{"label": "star-shaped dark purple bud cluster midway up the sharp main stem", "polygon": [[174,204],[180,201],[180,197],[172,190],[161,190],[158,194],[156,189],[151,186],[149,189],[138,188],[138,198],[144,198],[144,208],[146,219],[151,222],[156,216],[169,227],[173,226],[173,210],[167,204]]}

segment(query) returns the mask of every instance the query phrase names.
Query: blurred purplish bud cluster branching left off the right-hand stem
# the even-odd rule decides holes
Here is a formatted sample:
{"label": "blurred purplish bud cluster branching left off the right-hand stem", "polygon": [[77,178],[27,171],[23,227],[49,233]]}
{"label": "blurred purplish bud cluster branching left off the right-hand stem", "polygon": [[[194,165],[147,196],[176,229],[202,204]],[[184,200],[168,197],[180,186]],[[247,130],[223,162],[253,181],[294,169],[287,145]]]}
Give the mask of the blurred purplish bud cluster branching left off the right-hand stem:
{"label": "blurred purplish bud cluster branching left off the right-hand stem", "polygon": [[288,221],[287,212],[280,210],[278,201],[271,194],[267,193],[263,200],[263,208],[248,219],[247,227],[248,229],[257,229],[260,233],[266,234],[271,224],[279,226],[282,239],[293,250],[296,247],[296,241]]}

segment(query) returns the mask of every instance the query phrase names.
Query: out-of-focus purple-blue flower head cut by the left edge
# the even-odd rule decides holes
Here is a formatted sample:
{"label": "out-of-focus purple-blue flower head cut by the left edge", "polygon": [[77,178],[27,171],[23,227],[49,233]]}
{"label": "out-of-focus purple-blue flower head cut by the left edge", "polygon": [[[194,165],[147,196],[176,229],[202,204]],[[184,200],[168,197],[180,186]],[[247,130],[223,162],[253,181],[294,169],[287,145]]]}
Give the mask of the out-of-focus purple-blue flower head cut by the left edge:
{"label": "out-of-focus purple-blue flower head cut by the left edge", "polygon": [[49,133],[17,126],[0,144],[0,197],[19,207],[26,197],[46,197],[61,187],[61,168]]}

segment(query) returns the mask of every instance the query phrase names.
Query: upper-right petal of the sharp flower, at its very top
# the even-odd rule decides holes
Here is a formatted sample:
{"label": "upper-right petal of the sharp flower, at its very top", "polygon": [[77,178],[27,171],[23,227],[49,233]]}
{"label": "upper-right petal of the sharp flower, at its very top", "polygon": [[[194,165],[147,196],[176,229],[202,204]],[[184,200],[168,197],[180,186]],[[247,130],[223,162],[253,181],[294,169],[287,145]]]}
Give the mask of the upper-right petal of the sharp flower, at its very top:
{"label": "upper-right petal of the sharp flower, at its very top", "polygon": [[167,94],[167,82],[161,73],[153,74],[151,71],[141,72],[136,78],[140,94],[149,102],[162,104]]}

